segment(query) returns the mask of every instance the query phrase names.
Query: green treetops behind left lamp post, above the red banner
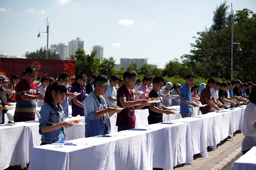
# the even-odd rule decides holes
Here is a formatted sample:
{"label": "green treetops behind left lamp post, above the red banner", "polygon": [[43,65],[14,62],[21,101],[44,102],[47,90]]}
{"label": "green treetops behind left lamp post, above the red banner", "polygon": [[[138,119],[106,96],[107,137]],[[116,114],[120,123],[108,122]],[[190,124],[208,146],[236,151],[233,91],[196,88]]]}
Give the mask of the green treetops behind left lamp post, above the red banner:
{"label": "green treetops behind left lamp post, above the red banner", "polygon": [[[46,47],[44,47],[44,50],[42,47],[40,50],[37,50],[36,52],[32,52],[28,55],[26,55],[27,59],[46,59]],[[50,50],[48,50],[48,60],[60,60],[60,57],[58,54],[52,54]]]}

